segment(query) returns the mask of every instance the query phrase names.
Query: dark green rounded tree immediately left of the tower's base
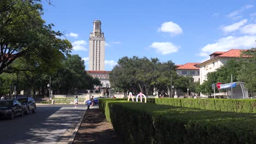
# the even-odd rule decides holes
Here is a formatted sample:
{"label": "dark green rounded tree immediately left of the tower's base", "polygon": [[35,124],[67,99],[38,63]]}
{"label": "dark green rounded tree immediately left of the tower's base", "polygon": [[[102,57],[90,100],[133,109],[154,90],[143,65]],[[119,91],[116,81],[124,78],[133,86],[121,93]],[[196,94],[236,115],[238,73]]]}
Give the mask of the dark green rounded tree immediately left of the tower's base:
{"label": "dark green rounded tree immediately left of the tower's base", "polygon": [[86,73],[84,60],[78,55],[68,55],[52,79],[52,89],[59,94],[74,94],[101,85],[100,80]]}

